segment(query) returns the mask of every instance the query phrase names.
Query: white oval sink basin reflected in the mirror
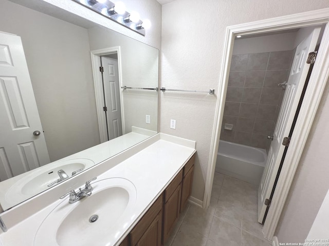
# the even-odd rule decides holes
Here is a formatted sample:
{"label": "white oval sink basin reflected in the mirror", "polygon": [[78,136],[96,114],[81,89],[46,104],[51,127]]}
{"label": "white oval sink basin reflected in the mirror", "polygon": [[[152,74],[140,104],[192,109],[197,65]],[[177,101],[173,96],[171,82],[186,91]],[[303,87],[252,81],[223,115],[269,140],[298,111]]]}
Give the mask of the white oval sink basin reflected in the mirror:
{"label": "white oval sink basin reflected in the mirror", "polygon": [[[59,178],[57,174],[58,170],[64,170],[67,175],[71,177],[72,172],[81,168],[83,168],[83,170],[87,169],[94,166],[94,164],[95,163],[92,160],[81,158],[57,161],[38,169],[31,170],[8,190],[6,200],[20,202],[22,201],[22,198],[29,198],[49,189],[48,185]],[[13,199],[16,199],[17,201]]]}

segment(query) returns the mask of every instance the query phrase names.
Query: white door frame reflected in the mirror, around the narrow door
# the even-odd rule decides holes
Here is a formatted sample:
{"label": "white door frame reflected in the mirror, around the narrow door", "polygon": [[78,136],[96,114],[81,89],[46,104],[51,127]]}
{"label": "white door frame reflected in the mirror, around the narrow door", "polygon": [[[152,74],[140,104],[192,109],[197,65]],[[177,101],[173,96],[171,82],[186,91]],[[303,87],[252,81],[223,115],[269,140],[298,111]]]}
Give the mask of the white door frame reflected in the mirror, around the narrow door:
{"label": "white door frame reflected in the mirror, around the narrow door", "polygon": [[[100,140],[102,142],[107,141],[107,127],[106,127],[106,117],[104,114],[104,91],[103,91],[103,78],[102,74],[99,71],[101,66],[100,56],[118,54],[118,70],[119,70],[119,85],[122,86],[122,71],[121,71],[121,49],[120,46],[109,47],[99,50],[90,51],[92,56],[92,69],[93,69],[93,78],[94,78],[94,89],[95,89],[95,99],[96,99],[96,111],[99,127]],[[121,102],[121,119],[122,119],[122,134],[124,134],[124,107],[122,99],[122,90],[120,90],[120,102]]]}

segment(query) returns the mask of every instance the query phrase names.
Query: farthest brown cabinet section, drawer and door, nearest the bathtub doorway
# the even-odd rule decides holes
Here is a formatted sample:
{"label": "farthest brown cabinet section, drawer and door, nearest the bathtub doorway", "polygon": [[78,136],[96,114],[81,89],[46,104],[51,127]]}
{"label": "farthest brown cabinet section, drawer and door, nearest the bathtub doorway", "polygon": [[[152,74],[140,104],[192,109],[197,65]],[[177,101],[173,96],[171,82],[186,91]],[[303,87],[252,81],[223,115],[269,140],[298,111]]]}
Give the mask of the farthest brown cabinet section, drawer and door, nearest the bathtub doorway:
{"label": "farthest brown cabinet section, drawer and door, nearest the bathtub doorway", "polygon": [[183,180],[181,182],[181,199],[180,199],[180,212],[184,209],[192,191],[192,181],[194,172],[194,159],[195,154],[186,163],[183,168]]}

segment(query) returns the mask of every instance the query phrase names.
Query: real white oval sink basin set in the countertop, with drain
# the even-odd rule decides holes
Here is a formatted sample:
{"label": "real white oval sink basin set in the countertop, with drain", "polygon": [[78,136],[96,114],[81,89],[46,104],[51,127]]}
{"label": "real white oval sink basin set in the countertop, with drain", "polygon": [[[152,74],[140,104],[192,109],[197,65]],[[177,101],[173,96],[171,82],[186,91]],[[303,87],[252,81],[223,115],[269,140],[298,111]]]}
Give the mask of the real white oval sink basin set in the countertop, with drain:
{"label": "real white oval sink basin set in the countertop, with drain", "polygon": [[124,178],[99,180],[93,187],[91,196],[75,203],[60,200],[39,227],[34,246],[114,245],[135,219],[136,188]]}

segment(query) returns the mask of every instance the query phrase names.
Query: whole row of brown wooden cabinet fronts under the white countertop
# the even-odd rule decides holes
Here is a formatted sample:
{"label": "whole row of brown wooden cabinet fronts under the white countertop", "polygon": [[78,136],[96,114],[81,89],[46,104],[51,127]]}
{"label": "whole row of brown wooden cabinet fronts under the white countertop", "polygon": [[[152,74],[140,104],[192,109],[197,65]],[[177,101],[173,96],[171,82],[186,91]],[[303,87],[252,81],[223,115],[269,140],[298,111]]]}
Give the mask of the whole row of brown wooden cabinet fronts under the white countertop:
{"label": "whole row of brown wooden cabinet fronts under the white countertop", "polygon": [[191,194],[195,154],[139,220],[120,246],[161,246]]}

